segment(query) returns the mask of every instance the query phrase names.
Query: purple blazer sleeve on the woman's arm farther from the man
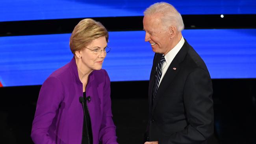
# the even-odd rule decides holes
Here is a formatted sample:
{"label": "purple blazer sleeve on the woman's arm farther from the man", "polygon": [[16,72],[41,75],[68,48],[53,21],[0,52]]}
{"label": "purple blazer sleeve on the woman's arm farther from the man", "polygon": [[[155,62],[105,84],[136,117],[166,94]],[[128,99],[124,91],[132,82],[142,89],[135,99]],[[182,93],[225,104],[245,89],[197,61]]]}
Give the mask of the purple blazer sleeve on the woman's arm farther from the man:
{"label": "purple blazer sleeve on the woman's arm farther from the man", "polygon": [[35,144],[56,144],[55,138],[49,135],[59,103],[63,100],[63,86],[55,77],[49,77],[43,83],[37,100],[31,137]]}

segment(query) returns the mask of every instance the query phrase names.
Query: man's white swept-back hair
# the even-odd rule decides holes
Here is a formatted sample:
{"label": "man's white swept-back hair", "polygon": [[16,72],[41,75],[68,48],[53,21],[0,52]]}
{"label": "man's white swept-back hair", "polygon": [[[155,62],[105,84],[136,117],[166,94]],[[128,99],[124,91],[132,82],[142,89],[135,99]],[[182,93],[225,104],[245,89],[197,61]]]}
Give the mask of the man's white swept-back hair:
{"label": "man's white swept-back hair", "polygon": [[161,14],[161,22],[165,28],[170,26],[176,26],[177,31],[184,30],[184,23],[180,13],[166,2],[157,2],[144,11],[145,16],[154,15],[156,13]]}

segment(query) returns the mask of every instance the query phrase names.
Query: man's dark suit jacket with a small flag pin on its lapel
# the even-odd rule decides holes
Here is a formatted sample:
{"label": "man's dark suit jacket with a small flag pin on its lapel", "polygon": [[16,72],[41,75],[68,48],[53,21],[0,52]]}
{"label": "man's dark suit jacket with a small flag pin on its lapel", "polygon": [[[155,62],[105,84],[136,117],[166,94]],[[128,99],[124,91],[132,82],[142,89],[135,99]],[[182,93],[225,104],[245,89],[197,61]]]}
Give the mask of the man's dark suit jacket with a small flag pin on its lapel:
{"label": "man's dark suit jacket with a small flag pin on its lapel", "polygon": [[152,105],[154,74],[161,56],[155,54],[150,74],[146,141],[207,144],[213,135],[213,90],[204,61],[185,40],[165,73]]}

